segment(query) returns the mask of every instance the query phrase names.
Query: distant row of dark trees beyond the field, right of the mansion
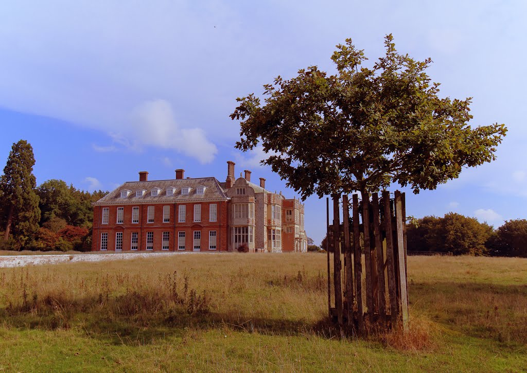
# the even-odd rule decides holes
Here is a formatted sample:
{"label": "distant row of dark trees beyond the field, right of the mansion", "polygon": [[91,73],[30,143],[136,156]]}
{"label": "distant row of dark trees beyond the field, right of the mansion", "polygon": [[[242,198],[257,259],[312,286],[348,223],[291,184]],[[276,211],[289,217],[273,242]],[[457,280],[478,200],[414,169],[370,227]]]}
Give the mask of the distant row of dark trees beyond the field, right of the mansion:
{"label": "distant row of dark trees beyond the field, right of the mansion", "polygon": [[[332,236],[330,232],[330,252],[333,252]],[[427,216],[409,221],[406,224],[406,239],[409,252],[451,252],[454,255],[527,258],[525,219],[508,220],[501,227],[494,229],[486,222],[480,223],[475,218],[449,212],[443,218]],[[362,236],[360,240],[362,242]],[[311,245],[308,250],[319,251],[325,248],[326,237],[320,247]]]}

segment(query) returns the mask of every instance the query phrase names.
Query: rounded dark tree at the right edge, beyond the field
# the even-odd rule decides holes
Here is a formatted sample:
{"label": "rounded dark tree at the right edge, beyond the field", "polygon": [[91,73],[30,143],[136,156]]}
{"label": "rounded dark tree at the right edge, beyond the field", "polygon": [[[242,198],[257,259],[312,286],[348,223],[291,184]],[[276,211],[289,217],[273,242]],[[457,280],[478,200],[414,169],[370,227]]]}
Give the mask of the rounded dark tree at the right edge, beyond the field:
{"label": "rounded dark tree at the right edge, beyond the field", "polygon": [[495,256],[527,258],[527,220],[505,221],[487,245]]}

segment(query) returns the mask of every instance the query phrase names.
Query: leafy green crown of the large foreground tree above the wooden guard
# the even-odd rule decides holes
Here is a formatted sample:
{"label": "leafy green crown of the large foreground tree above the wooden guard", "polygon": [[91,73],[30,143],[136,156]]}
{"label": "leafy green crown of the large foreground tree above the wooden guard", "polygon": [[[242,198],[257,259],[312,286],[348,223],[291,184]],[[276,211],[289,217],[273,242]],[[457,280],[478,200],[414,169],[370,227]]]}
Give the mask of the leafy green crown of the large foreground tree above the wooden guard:
{"label": "leafy green crown of the large foreground tree above the wooden guard", "polygon": [[298,76],[264,85],[265,105],[255,94],[238,98],[230,115],[239,120],[236,148],[261,142],[270,154],[262,164],[287,180],[302,200],[327,194],[385,189],[393,182],[414,193],[457,178],[463,167],[495,159],[503,124],[472,128],[471,98],[438,97],[426,68],[385,38],[386,54],[364,67],[367,58],[352,40],[337,45],[328,75],[316,66]]}

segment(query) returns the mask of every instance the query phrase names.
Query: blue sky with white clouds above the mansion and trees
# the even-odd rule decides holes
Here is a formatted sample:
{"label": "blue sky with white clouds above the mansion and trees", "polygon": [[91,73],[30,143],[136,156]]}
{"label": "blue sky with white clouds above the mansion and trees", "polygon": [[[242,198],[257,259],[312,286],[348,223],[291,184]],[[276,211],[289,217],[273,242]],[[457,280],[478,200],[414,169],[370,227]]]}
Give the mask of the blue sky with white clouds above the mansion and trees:
{"label": "blue sky with white clouds above the mansion and trees", "polygon": [[[317,65],[335,73],[350,37],[369,63],[396,48],[418,60],[440,96],[473,97],[472,126],[505,123],[497,160],[434,191],[406,192],[416,218],[453,211],[499,227],[527,218],[524,101],[527,2],[518,1],[23,1],[0,3],[0,167],[14,142],[34,148],[37,184],[84,190],[124,181],[236,175],[298,197],[241,153],[236,98]],[[393,186],[392,190],[396,187]],[[326,202],[305,201],[309,237],[326,231]]]}

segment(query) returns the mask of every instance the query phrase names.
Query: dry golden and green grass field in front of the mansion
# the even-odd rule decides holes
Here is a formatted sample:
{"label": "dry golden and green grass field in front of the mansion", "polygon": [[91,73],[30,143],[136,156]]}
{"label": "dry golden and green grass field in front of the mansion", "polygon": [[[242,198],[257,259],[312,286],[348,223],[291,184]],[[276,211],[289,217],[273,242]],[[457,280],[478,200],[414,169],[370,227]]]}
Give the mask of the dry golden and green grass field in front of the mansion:
{"label": "dry golden and green grass field in front of the mansion", "polygon": [[0,269],[6,371],[522,371],[527,260],[409,257],[411,330],[341,338],[324,254]]}

